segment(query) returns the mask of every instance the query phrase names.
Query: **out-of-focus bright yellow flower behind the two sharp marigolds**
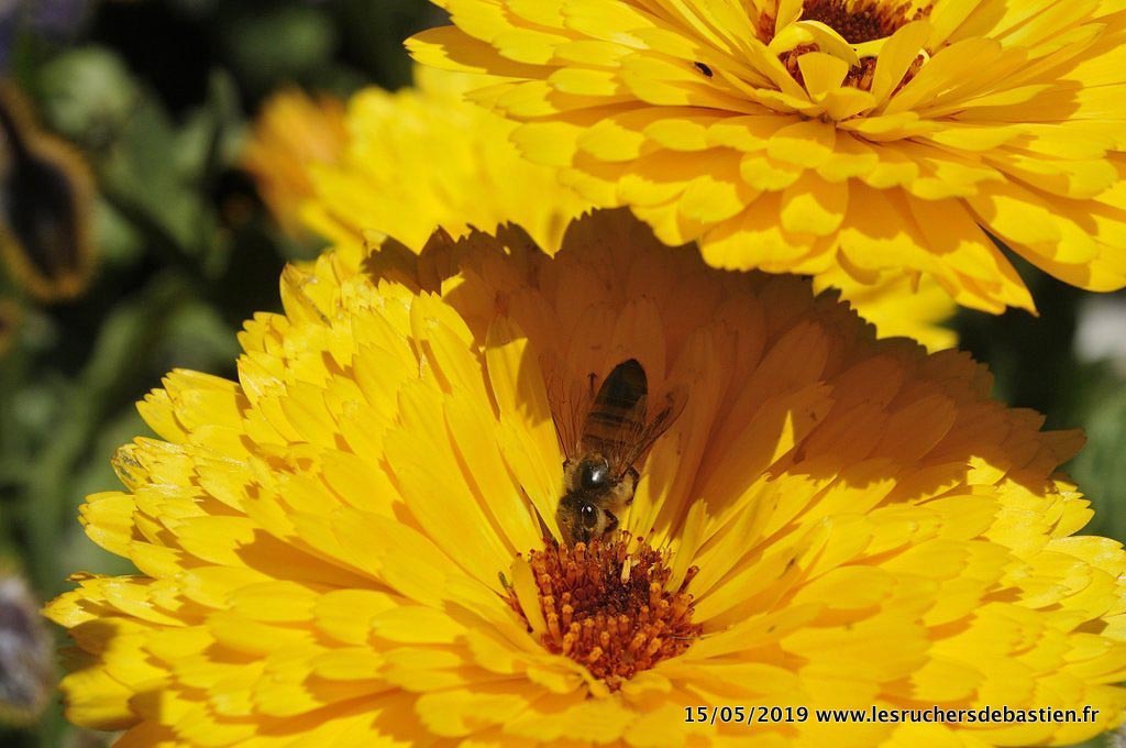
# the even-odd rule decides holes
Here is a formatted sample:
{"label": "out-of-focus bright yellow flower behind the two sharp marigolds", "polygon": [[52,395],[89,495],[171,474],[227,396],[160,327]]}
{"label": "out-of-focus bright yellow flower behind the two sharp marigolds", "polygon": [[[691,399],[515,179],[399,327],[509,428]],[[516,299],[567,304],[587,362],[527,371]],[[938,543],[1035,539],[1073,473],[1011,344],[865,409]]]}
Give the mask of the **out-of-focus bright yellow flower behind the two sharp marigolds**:
{"label": "out-of-focus bright yellow flower behind the two sharp marigolds", "polygon": [[311,226],[338,246],[376,231],[419,250],[436,226],[461,237],[513,222],[557,249],[588,203],[520,155],[508,140],[513,124],[462,100],[474,77],[417,73],[417,88],[368,88],[348,103],[339,163],[309,170]]}

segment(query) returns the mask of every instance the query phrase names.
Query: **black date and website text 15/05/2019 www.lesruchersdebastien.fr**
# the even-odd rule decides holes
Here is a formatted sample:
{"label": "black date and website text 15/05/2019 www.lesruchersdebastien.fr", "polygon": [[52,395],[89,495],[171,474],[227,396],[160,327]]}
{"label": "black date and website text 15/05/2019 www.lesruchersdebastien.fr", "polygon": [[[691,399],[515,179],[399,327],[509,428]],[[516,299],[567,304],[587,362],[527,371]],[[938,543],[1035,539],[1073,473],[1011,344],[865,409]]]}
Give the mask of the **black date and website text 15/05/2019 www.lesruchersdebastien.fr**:
{"label": "black date and website text 15/05/2019 www.lesruchersdebastien.fr", "polygon": [[685,706],[685,722],[697,724],[775,724],[779,722],[947,722],[966,724],[1006,724],[1011,722],[1093,722],[1099,710],[1083,709],[810,709],[808,706]]}

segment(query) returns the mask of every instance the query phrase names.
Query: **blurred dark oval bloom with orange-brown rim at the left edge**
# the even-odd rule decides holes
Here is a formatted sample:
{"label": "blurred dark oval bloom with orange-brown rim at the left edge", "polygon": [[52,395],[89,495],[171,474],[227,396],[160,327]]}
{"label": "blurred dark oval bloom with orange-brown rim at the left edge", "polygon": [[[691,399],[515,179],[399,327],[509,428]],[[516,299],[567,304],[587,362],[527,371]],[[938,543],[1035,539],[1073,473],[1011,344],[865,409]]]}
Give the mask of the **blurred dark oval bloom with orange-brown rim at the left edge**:
{"label": "blurred dark oval bloom with orange-brown rim at the left edge", "polygon": [[0,252],[35,296],[75,296],[91,265],[89,171],[69,145],[36,130],[10,87],[0,88]]}

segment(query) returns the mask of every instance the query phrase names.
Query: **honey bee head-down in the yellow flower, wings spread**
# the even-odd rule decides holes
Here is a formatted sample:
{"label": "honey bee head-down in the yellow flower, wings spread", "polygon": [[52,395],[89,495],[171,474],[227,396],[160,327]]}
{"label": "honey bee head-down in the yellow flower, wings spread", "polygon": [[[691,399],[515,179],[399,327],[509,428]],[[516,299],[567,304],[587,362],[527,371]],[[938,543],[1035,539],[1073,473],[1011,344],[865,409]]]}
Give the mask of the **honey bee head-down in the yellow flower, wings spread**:
{"label": "honey bee head-down in the yellow flower, wings spread", "polygon": [[[593,374],[590,384],[593,391]],[[647,400],[645,369],[631,358],[615,366],[589,399],[578,439],[573,438],[577,403],[572,401],[570,411],[552,409],[566,455],[555,520],[569,544],[589,543],[617,529],[618,516],[637,489],[637,464],[683,409],[683,398],[670,393],[651,415]]]}

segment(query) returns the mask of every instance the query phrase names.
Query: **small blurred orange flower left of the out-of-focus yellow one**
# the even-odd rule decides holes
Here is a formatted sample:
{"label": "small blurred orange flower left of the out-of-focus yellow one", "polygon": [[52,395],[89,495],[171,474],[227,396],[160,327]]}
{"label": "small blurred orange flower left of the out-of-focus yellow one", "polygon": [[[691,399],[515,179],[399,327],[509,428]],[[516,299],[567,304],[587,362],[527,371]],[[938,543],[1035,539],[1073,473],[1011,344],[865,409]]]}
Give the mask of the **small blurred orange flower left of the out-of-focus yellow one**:
{"label": "small blurred orange flower left of the out-of-focus yellow one", "polygon": [[301,89],[286,89],[262,106],[242,168],[291,237],[305,235],[301,208],[314,194],[310,168],[336,162],[347,139],[343,104],[328,94],[314,99]]}

